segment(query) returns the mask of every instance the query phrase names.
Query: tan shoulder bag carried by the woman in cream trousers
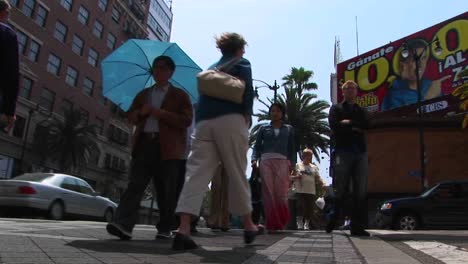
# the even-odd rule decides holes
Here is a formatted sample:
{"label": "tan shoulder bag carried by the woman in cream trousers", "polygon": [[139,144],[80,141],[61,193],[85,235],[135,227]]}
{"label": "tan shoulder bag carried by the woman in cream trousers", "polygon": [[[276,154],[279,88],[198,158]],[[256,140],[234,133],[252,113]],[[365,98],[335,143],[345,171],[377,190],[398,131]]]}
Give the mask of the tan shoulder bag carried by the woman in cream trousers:
{"label": "tan shoulder bag carried by the woman in cream trousers", "polygon": [[245,82],[225,72],[239,60],[240,58],[234,58],[220,67],[197,74],[198,93],[241,104],[245,91]]}

